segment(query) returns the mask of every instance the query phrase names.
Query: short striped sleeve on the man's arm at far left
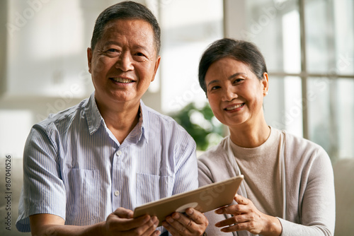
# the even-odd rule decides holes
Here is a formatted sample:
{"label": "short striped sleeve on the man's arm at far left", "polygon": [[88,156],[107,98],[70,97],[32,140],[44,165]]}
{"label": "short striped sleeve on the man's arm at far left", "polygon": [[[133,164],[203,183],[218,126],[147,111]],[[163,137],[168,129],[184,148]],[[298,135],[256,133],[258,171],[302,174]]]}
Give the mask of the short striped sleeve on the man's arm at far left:
{"label": "short striped sleeve on the man's arm at far left", "polygon": [[[51,131],[48,131],[51,130]],[[65,218],[66,197],[59,168],[59,138],[55,127],[36,124],[23,152],[23,189],[16,228],[30,231],[29,216],[50,213]]]}

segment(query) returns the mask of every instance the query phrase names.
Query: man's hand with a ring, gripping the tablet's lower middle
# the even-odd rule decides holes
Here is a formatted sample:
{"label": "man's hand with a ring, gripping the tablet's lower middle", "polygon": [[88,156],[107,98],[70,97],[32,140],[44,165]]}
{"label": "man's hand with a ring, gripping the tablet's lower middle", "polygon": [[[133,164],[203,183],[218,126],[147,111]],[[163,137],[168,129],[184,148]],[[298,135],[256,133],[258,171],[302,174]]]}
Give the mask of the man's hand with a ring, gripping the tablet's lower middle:
{"label": "man's hand with a ring, gripping the tablet's lower middle", "polygon": [[162,225],[169,230],[173,236],[200,236],[205,232],[209,222],[204,214],[196,211],[194,208],[188,208],[185,211],[187,216],[175,212],[166,217]]}

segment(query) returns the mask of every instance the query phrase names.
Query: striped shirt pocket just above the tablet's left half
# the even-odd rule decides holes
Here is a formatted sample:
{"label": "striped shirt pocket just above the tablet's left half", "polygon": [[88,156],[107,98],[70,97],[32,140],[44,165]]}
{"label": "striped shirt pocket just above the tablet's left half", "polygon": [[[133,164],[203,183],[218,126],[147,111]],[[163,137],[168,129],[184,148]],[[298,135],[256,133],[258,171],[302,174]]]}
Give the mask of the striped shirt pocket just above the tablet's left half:
{"label": "striped shirt pocket just above the tablet's left half", "polygon": [[147,175],[137,173],[137,206],[171,196],[173,176]]}

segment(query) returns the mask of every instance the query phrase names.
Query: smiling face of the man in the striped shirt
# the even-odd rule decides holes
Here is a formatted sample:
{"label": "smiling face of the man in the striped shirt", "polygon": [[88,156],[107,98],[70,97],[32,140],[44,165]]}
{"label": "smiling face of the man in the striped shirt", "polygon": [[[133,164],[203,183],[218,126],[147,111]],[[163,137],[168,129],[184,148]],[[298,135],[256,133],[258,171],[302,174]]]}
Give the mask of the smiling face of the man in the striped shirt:
{"label": "smiling face of the man in the striped shirt", "polygon": [[87,50],[98,106],[138,105],[159,67],[156,53],[146,21],[120,19],[105,25],[95,49]]}

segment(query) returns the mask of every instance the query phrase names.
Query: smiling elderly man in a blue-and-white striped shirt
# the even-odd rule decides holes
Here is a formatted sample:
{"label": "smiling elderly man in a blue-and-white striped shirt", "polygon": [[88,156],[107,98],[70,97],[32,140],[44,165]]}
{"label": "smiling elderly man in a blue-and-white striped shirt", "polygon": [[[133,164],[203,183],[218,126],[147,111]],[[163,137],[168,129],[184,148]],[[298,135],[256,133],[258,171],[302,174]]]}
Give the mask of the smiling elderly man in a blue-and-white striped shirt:
{"label": "smiling elderly man in a blue-and-white striped shirt", "polygon": [[[16,228],[33,235],[202,235],[189,208],[157,228],[132,209],[198,187],[195,142],[140,100],[159,67],[160,29],[141,4],[105,9],[87,49],[95,92],[35,124],[23,156]],[[165,229],[166,228],[166,229]]]}

